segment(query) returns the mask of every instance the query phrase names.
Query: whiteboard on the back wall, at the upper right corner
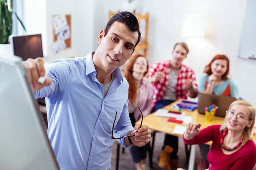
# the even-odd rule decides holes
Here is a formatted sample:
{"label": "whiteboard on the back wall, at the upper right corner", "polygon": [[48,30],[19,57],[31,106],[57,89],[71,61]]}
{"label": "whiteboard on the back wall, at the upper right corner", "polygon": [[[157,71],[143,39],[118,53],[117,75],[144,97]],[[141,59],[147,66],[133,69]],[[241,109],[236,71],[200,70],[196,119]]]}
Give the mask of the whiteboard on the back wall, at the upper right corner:
{"label": "whiteboard on the back wall, at the upper right corner", "polygon": [[241,32],[239,57],[256,58],[256,0],[247,0]]}

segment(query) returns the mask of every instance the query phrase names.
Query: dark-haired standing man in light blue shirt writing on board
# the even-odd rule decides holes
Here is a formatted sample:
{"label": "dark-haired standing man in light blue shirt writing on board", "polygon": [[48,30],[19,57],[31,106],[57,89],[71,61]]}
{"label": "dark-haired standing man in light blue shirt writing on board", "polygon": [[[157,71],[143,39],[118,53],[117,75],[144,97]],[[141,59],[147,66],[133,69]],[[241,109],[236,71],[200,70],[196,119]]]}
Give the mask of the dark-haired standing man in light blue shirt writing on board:
{"label": "dark-haired standing man in light blue shirt writing on board", "polygon": [[[120,66],[131,58],[140,41],[139,23],[120,12],[100,31],[99,47],[86,57],[52,63],[44,84],[41,58],[23,62],[36,98],[47,97],[48,137],[61,170],[108,170],[114,130],[125,136],[132,128],[128,114],[128,82]],[[117,115],[116,115],[117,112]],[[132,137],[118,139],[123,147],[144,146],[147,126]]]}

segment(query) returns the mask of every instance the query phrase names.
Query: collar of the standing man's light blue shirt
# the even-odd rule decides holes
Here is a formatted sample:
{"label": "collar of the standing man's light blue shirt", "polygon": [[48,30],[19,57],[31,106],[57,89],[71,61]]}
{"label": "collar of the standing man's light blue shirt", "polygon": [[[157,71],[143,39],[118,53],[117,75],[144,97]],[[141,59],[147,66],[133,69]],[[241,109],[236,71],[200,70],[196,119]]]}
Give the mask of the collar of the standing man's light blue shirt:
{"label": "collar of the standing man's light blue shirt", "polygon": [[[94,53],[95,52],[93,51],[85,57],[86,75],[91,74],[93,72],[96,73],[95,66],[93,63]],[[121,82],[123,80],[123,75],[120,68],[116,68],[114,70],[114,73],[115,73],[115,76],[117,77],[118,82]]]}

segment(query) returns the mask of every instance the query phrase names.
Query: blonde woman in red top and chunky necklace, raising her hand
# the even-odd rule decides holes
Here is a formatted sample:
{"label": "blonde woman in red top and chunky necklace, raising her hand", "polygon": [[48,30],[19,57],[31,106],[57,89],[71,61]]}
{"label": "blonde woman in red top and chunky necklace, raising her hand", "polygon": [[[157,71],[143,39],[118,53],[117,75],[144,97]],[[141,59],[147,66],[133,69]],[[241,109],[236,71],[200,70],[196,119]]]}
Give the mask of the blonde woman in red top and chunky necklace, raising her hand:
{"label": "blonde woman in red top and chunky necklace, raising her hand", "polygon": [[254,122],[255,108],[244,100],[237,100],[230,105],[222,125],[200,131],[201,124],[189,123],[183,141],[190,145],[212,141],[207,155],[209,170],[252,170],[256,164],[256,145],[252,140]]}

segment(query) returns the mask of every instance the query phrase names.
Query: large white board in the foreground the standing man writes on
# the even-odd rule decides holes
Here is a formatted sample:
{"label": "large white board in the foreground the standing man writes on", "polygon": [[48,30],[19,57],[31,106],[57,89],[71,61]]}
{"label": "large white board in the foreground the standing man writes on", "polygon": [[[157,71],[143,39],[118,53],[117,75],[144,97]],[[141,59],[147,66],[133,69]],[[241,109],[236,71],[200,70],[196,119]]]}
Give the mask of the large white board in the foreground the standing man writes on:
{"label": "large white board in the foreground the standing man writes on", "polygon": [[0,58],[0,170],[59,170],[20,57]]}

